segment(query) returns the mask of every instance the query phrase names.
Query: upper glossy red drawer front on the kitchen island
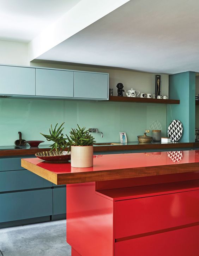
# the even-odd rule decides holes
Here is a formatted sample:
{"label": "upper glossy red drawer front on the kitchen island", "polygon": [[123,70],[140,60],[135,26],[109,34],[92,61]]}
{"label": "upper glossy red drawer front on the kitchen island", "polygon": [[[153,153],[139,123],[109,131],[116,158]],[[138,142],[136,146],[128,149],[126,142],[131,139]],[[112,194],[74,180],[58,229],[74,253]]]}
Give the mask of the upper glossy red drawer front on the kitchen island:
{"label": "upper glossy red drawer front on the kitchen island", "polygon": [[115,203],[115,238],[199,221],[199,190]]}

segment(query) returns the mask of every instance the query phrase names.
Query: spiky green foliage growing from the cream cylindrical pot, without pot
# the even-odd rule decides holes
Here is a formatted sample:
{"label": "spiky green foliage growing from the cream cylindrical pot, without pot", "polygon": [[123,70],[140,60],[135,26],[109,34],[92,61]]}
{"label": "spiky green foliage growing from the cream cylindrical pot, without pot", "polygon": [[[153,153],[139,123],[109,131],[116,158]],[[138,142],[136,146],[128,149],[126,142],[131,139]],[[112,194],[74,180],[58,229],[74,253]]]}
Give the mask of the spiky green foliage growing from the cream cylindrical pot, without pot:
{"label": "spiky green foliage growing from the cream cylindrical pot, without pot", "polygon": [[89,134],[89,130],[77,126],[78,128],[70,131],[70,137],[66,134],[68,151],[71,150],[71,146],[92,146],[96,142],[95,138]]}

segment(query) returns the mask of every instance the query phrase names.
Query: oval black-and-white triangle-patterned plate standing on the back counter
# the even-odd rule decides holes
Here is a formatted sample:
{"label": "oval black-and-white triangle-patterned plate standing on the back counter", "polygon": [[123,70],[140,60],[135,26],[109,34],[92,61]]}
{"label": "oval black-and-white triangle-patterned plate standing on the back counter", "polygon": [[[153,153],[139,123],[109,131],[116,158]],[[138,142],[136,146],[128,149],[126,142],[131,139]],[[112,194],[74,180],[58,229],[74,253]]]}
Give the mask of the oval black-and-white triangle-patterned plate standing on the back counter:
{"label": "oval black-and-white triangle-patterned plate standing on the back counter", "polygon": [[171,138],[171,141],[178,141],[182,136],[182,123],[179,120],[174,120],[169,124],[168,127],[168,136]]}

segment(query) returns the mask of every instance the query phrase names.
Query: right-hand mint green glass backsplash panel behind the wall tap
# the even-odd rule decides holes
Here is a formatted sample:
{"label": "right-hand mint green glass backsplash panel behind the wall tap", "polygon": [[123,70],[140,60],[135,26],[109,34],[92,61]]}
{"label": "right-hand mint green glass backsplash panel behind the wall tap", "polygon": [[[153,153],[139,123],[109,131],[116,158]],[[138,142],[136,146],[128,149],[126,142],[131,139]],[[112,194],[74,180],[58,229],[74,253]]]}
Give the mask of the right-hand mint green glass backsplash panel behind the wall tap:
{"label": "right-hand mint green glass backsplash panel behind the wall tap", "polygon": [[161,129],[163,136],[166,130],[163,104],[65,100],[64,117],[67,133],[71,127],[77,127],[77,123],[98,128],[103,138],[100,133],[93,133],[97,142],[120,141],[119,132],[126,132],[128,141],[137,141],[145,129]]}

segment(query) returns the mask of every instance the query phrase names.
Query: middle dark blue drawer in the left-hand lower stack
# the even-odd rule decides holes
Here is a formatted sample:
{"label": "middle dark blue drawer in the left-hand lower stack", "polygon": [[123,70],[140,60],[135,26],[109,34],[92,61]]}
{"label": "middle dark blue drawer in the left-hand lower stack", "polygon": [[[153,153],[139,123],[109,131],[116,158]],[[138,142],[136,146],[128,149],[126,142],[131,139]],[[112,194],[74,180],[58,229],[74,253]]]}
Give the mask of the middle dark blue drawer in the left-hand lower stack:
{"label": "middle dark blue drawer in the left-hand lower stack", "polygon": [[52,182],[28,170],[0,172],[0,192],[44,187],[52,187]]}

